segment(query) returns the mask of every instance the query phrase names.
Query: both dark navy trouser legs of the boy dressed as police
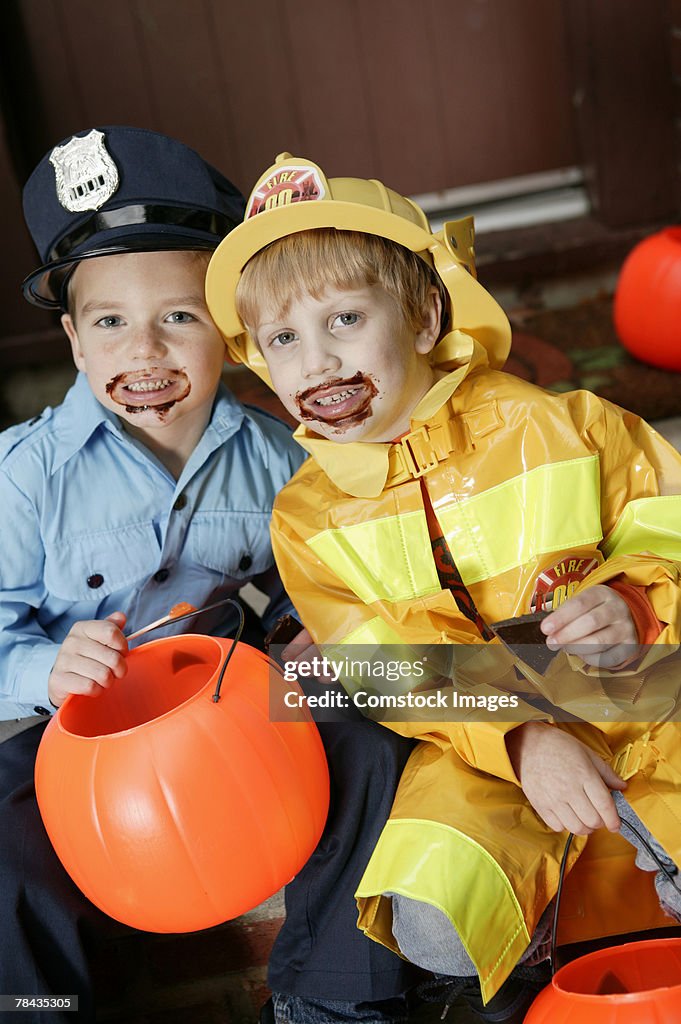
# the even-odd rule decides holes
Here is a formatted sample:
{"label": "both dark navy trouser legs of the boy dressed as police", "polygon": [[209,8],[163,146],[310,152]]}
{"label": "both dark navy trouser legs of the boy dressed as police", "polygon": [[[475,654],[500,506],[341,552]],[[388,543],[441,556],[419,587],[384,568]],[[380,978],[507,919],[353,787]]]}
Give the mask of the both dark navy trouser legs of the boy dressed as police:
{"label": "both dark navy trouser legs of the boy dressed as police", "polygon": [[[10,1012],[0,1021],[91,1024],[89,953],[126,929],[82,895],[47,838],[33,785],[44,728],[0,743],[0,993],[78,994],[79,1011]],[[357,930],[353,893],[412,744],[358,713],[356,721],[322,723],[320,731],[332,776],[331,812],[317,849],[287,888],[270,985],[328,999],[387,998],[420,974]],[[120,980],[125,987],[124,975]]]}

